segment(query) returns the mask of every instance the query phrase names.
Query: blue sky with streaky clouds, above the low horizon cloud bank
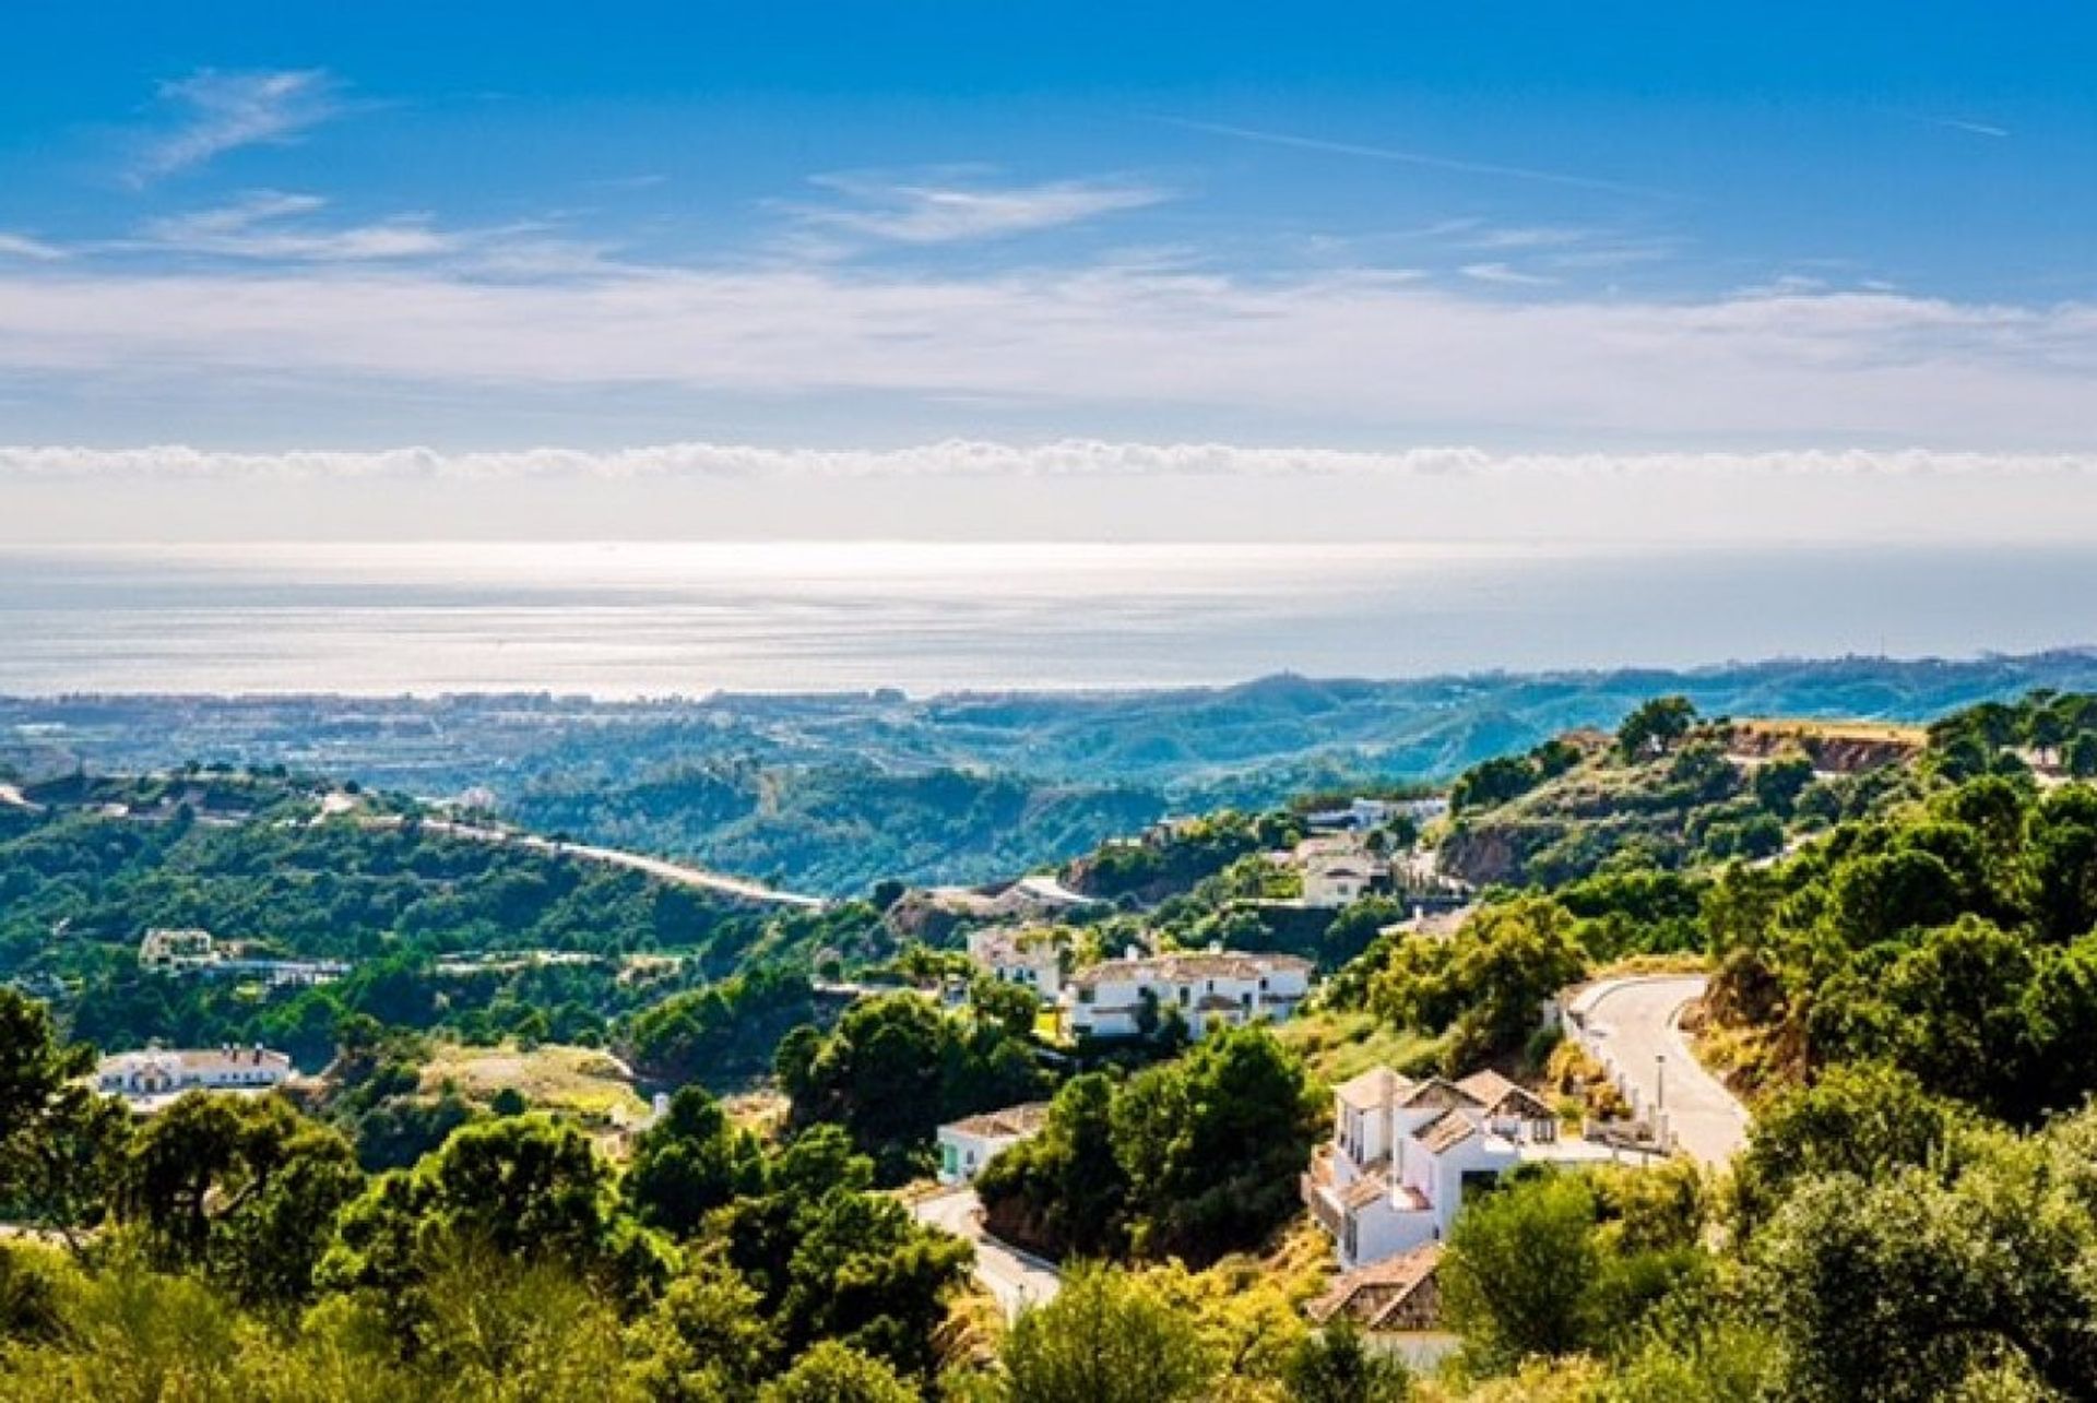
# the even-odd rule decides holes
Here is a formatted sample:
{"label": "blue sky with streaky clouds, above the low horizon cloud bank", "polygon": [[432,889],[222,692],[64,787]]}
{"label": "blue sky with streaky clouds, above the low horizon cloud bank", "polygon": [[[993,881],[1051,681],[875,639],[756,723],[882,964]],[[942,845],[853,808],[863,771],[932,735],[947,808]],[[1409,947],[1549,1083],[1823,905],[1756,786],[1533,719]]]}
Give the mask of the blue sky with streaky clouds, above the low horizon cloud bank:
{"label": "blue sky with streaky clouds, above the low horizon cloud bank", "polygon": [[[80,531],[161,445],[2097,447],[2089,6],[29,4],[8,59],[0,493]],[[604,463],[663,445],[723,453]]]}

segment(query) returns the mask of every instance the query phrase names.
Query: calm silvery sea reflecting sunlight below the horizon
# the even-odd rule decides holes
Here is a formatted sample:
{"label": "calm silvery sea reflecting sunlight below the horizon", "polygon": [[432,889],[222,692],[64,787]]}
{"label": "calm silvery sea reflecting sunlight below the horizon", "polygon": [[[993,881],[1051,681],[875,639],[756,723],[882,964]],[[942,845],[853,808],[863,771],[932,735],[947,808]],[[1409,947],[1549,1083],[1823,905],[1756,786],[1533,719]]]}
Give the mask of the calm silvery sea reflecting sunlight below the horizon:
{"label": "calm silvery sea reflecting sunlight below the horizon", "polygon": [[0,549],[10,694],[929,692],[2091,642],[2097,547]]}

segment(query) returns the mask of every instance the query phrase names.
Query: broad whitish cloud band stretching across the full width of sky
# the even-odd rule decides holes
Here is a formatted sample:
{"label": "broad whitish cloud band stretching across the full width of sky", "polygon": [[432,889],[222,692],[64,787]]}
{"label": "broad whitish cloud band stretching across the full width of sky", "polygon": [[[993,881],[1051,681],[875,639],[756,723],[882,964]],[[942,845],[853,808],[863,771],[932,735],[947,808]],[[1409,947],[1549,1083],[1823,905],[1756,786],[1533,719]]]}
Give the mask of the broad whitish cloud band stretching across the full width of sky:
{"label": "broad whitish cloud band stretching across the full width of sky", "polygon": [[308,382],[491,405],[552,386],[898,409],[986,396],[1350,434],[2057,449],[2089,445],[2097,304],[1464,296],[1344,271],[608,264],[520,281],[449,260],[147,273],[75,258],[0,268],[6,373],[84,392],[268,375],[285,405]]}

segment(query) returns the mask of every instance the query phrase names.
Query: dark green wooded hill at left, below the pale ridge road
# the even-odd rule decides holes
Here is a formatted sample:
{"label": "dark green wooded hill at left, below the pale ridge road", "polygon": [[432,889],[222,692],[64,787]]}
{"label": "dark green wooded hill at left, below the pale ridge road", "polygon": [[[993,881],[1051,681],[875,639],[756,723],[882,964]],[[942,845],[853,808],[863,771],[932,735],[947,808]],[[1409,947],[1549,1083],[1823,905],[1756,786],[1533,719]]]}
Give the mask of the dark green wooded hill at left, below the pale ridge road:
{"label": "dark green wooded hill at left, below the pale ridge road", "polygon": [[[260,1040],[310,1070],[333,1053],[346,1015],[478,1040],[606,1042],[629,1015],[742,967],[805,971],[818,948],[889,950],[864,908],[757,908],[455,837],[407,801],[319,782],[61,780],[21,799],[0,807],[0,973],[48,994],[75,1036],[111,1049]],[[147,931],[189,927],[239,960],[346,969],[308,988],[264,971],[140,967]],[[751,1030],[719,1011],[709,1019],[717,1063],[770,1061],[770,1042],[730,1057]]]}

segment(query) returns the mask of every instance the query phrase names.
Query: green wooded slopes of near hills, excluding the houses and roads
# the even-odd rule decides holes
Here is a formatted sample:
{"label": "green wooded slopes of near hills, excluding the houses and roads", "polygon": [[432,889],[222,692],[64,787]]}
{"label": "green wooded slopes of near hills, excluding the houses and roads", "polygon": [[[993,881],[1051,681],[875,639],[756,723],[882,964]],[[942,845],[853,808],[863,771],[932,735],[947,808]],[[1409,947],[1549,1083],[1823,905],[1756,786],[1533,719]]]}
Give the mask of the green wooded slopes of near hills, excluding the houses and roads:
{"label": "green wooded slopes of near hills, excluding the houses and roads", "polygon": [[[120,963],[132,904],[224,902],[241,931],[241,912],[264,929],[281,908],[277,929],[369,965],[247,1000],[260,1015],[325,996],[325,1034],[289,1026],[336,1044],[306,1111],[193,1097],[143,1124],[69,1084],[92,1007],[65,1005],[78,988],[63,1032],[0,992],[0,1204],[57,1233],[0,1244],[0,1399],[157,1399],[168,1378],[226,1399],[2091,1397],[2091,770],[2082,694],[1919,734],[1648,698],[1613,732],[1457,780],[1453,816],[1420,839],[1462,854],[1499,826],[1520,862],[1453,931],[1399,923],[1380,895],[1298,931],[1311,912],[1275,895],[1271,854],[1300,816],[1176,824],[1076,864],[1116,904],[1044,937],[1074,958],[1304,942],[1329,977],[1275,1030],[1189,1042],[1160,1019],[1122,1046],[1046,1042],[1023,990],[960,981],[952,950],[891,948],[874,904],[702,906],[705,954],[640,977],[686,927],[658,925],[663,891],[633,875],[453,851],[396,814],[321,818],[312,793],[266,784],[241,807],[252,782],[226,776],[187,820],[168,793],[132,793],[151,822],[99,812],[124,801],[107,789],[78,795],[92,814],[17,812],[0,877],[34,916],[8,948],[73,950],[86,988]],[[352,895],[321,881],[323,856]],[[73,946],[50,935],[67,919]],[[472,940],[445,935],[451,921]],[[617,963],[489,971],[487,1002],[432,984],[438,950],[512,921]],[[694,973],[715,958],[747,969]],[[809,979],[833,960],[918,988],[837,1017]],[[1539,1011],[1655,960],[1711,975],[1692,1036],[1749,1097],[1747,1149],[1711,1174],[1527,1166],[1472,1195],[1439,1267],[1460,1348],[1432,1372],[1309,1328],[1329,1246],[1304,1235],[1298,1174],[1327,1135],[1327,1082],[1374,1059],[1495,1067],[1552,1097],[1571,1135],[1621,1107]],[[438,1040],[516,1059],[547,1034],[608,1040],[682,1091],[608,1137],[552,1093],[426,1082],[468,1065]],[[765,1114],[696,1084],[765,1063]],[[979,1189],[996,1231],[1069,1271],[1055,1304],[1007,1325],[969,1290],[965,1244],[877,1185],[921,1177],[942,1120],[1036,1099],[1042,1132]]]}

